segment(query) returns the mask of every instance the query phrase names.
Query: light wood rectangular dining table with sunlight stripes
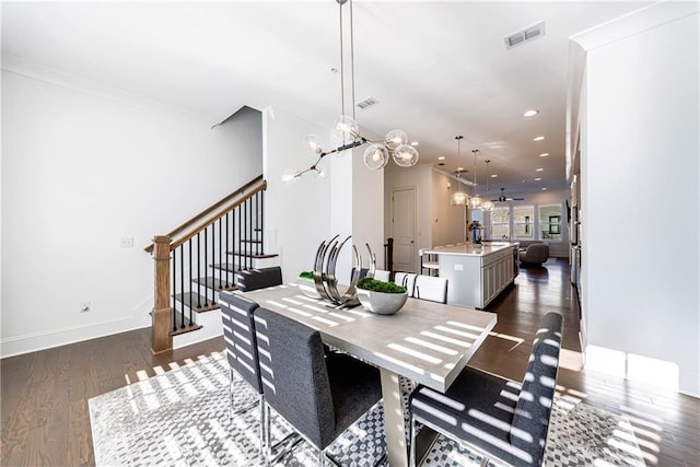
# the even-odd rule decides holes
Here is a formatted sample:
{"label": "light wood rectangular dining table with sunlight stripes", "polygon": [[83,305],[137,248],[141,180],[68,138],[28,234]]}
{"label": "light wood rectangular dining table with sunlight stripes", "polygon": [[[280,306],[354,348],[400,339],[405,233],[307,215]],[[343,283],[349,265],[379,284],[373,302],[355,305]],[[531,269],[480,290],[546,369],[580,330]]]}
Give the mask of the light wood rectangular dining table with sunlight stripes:
{"label": "light wood rectangular dining table with sunlight stripes", "polygon": [[479,349],[497,315],[409,297],[393,315],[335,305],[287,283],[243,295],[259,306],[317,329],[323,341],[380,369],[389,466],[408,465],[399,377],[444,393]]}

